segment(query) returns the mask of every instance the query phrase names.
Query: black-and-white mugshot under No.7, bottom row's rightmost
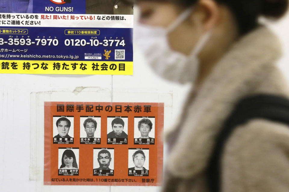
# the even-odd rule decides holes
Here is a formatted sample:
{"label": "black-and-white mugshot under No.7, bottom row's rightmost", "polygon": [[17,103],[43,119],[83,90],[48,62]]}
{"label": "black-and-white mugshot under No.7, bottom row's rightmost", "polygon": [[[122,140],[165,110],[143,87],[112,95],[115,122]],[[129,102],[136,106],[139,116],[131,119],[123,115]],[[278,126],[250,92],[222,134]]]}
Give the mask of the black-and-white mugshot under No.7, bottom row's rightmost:
{"label": "black-and-white mugshot under No.7, bottom row's rightmost", "polygon": [[[132,161],[131,161],[132,160]],[[149,150],[129,149],[129,170],[148,170]]]}

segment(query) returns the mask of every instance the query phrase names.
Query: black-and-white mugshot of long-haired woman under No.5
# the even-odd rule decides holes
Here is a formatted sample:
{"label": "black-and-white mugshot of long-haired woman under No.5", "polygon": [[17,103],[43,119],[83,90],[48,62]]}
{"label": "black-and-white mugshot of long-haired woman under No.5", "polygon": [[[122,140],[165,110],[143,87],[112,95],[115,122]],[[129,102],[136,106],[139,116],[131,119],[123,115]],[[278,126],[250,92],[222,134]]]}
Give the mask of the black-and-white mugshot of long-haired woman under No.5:
{"label": "black-and-white mugshot of long-haired woman under No.5", "polygon": [[79,169],[79,149],[59,148],[58,149],[58,169],[78,170]]}

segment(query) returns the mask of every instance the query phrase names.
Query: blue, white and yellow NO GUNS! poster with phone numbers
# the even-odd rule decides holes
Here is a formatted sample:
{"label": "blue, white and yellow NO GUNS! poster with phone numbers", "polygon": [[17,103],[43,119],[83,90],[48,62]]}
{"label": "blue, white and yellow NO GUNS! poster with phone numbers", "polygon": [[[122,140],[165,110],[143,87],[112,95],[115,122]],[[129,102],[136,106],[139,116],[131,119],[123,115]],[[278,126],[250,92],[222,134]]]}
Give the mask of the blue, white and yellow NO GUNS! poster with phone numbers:
{"label": "blue, white and yellow NO GUNS! poster with phone numbers", "polygon": [[0,7],[0,73],[132,75],[132,0],[2,0]]}

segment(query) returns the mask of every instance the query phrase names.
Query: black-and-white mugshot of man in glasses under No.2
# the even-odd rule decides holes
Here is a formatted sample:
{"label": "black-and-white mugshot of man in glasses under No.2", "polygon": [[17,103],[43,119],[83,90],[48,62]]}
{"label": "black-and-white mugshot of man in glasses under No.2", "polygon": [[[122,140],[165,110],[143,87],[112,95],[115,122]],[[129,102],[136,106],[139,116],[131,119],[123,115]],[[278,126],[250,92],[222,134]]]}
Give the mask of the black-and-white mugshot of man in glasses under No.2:
{"label": "black-and-white mugshot of man in glasses under No.2", "polygon": [[101,117],[80,117],[80,138],[101,138]]}

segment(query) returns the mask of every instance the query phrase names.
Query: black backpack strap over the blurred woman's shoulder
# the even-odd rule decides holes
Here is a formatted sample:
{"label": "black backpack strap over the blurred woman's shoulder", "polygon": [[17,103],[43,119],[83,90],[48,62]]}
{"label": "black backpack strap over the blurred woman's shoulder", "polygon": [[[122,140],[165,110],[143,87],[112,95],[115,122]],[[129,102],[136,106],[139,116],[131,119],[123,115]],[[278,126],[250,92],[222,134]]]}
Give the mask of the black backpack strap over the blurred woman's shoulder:
{"label": "black backpack strap over the blurred woman's shoulder", "polygon": [[207,167],[210,192],[221,192],[222,153],[234,128],[257,118],[289,125],[289,100],[276,95],[253,95],[238,102],[216,138],[216,145]]}

